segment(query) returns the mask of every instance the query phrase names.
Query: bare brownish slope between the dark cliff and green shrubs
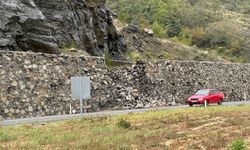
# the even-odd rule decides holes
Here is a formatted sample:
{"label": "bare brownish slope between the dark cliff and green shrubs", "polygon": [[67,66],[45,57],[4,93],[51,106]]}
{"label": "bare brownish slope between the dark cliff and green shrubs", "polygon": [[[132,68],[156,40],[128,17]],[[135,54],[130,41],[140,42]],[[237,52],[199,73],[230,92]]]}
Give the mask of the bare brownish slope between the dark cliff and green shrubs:
{"label": "bare brownish slope between the dark cliff and green shrubs", "polygon": [[141,59],[227,62],[218,56],[216,50],[208,51],[196,46],[188,46],[171,38],[158,38],[149,35],[140,27],[121,25],[119,20],[115,20],[115,25],[121,29],[120,32],[124,35],[127,44],[127,50],[123,55],[133,62]]}

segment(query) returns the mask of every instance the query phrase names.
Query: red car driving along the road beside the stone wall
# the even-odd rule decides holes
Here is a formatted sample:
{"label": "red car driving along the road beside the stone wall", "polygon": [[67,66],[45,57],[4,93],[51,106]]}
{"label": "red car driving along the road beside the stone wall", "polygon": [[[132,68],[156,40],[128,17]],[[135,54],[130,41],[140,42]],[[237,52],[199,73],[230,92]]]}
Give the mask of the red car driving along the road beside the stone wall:
{"label": "red car driving along the road beside the stone wall", "polygon": [[199,90],[196,94],[190,96],[186,101],[189,106],[194,104],[212,104],[217,103],[222,104],[224,100],[224,94],[216,89],[204,89]]}

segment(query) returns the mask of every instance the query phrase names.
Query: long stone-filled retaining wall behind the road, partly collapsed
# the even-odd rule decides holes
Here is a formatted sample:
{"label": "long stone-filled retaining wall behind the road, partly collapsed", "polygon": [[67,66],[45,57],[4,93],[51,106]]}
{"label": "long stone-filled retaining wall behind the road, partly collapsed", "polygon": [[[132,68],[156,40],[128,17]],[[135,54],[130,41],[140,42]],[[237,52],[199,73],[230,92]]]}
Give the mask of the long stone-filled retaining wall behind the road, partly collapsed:
{"label": "long stone-filled retaining wall behind the road, partly collapsed", "polygon": [[0,52],[0,116],[4,119],[61,115],[80,110],[70,77],[89,76],[88,111],[149,108],[183,103],[198,89],[217,88],[226,101],[250,93],[250,65],[139,61],[108,69],[103,58]]}

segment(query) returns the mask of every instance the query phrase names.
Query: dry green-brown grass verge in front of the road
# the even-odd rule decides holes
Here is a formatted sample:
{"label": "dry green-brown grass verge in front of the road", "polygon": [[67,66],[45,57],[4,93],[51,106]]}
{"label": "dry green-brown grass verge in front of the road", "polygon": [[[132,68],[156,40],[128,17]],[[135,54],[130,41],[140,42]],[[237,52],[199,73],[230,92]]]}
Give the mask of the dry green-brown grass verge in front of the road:
{"label": "dry green-brown grass verge in front of the road", "polygon": [[0,127],[0,149],[230,149],[250,146],[250,105]]}

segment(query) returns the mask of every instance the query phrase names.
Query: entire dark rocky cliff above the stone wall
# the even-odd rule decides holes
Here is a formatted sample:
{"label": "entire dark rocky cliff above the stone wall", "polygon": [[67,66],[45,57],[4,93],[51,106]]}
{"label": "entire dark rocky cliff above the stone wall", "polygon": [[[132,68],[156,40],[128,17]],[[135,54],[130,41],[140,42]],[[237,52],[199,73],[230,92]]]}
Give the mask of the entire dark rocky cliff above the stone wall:
{"label": "entire dark rocky cliff above the stone wall", "polygon": [[76,47],[102,56],[126,49],[105,0],[1,0],[0,47],[58,53]]}

